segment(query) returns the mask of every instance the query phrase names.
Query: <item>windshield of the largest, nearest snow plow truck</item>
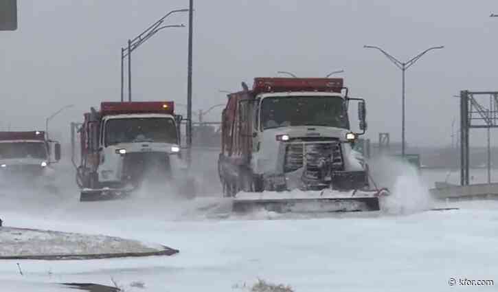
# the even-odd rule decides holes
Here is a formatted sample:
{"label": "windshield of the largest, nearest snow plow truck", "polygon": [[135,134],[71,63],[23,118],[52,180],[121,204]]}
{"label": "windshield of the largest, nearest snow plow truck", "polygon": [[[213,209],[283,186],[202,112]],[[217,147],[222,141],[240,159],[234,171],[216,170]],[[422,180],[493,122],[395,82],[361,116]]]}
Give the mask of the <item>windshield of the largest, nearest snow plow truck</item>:
{"label": "windshield of the largest, nearest snow plow truck", "polygon": [[349,128],[342,98],[335,96],[286,96],[264,98],[263,129],[281,126],[333,126]]}

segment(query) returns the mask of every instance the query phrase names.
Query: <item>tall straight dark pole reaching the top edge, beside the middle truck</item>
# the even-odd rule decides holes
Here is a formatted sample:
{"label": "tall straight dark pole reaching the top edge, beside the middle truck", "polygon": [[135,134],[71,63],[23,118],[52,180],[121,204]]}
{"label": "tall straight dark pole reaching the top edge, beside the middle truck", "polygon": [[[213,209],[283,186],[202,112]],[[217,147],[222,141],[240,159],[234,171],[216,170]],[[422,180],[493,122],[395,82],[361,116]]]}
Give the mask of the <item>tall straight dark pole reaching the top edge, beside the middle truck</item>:
{"label": "tall straight dark pole reaching the top edge, beside the middle truck", "polygon": [[190,166],[192,159],[192,33],[194,22],[194,0],[189,1],[188,11],[188,77],[187,77],[187,161]]}

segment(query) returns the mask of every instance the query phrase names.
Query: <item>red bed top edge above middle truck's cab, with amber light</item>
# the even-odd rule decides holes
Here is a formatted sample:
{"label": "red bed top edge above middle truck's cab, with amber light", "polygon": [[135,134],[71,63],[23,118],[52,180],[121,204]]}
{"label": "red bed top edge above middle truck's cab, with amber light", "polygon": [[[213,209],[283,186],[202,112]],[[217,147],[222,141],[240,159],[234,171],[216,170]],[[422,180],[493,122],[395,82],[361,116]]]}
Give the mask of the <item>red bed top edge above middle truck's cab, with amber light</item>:
{"label": "red bed top edge above middle truck's cab, with amber light", "polygon": [[174,102],[102,102],[102,115],[120,113],[174,113]]}

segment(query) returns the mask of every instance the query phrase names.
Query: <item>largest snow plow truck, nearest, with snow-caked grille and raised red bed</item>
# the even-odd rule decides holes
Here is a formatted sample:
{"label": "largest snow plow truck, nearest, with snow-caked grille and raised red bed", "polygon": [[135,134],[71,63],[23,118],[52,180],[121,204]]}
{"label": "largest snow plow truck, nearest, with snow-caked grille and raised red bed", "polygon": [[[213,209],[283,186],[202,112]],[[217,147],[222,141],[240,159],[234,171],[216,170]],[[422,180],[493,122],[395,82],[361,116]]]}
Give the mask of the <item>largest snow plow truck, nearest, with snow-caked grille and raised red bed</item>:
{"label": "largest snow plow truck, nearest, with snow-caked grille and raised red bed", "polygon": [[[389,191],[370,188],[366,160],[352,145],[367,128],[365,100],[342,78],[254,78],[222,113],[218,174],[234,212],[379,210]],[[350,131],[357,102],[361,133]]]}

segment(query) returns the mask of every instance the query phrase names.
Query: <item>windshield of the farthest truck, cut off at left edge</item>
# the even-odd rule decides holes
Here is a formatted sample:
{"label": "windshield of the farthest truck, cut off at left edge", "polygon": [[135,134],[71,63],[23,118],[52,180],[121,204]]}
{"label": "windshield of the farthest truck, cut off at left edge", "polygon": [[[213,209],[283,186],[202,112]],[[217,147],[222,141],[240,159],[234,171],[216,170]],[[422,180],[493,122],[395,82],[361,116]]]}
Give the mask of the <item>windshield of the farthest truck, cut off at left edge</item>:
{"label": "windshield of the farthest truck, cut off at left edge", "polygon": [[47,149],[43,142],[0,143],[0,159],[36,158],[46,159]]}

